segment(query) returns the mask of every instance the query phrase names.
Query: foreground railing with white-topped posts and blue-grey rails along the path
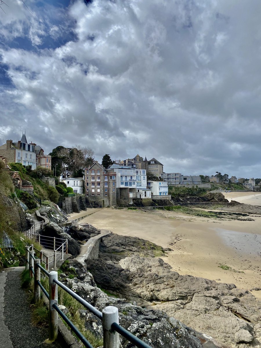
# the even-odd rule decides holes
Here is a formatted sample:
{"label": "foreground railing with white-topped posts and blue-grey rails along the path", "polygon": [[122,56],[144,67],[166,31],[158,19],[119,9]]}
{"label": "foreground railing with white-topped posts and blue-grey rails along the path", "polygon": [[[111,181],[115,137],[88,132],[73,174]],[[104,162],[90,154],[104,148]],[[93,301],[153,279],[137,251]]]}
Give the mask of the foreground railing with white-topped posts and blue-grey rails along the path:
{"label": "foreground railing with white-topped posts and blue-grey rails along the path", "polygon": [[[93,307],[90,303],[82,299],[79,295],[65,286],[58,280],[58,273],[56,271],[48,272],[44,267],[40,265],[40,260],[35,259],[34,251],[29,250],[27,246],[27,259],[26,268],[29,269],[30,277],[34,277],[34,301],[40,300],[41,290],[49,300],[49,340],[54,341],[58,335],[58,314],[68,324],[71,330],[77,335],[85,347],[93,348],[93,346],[87,341],[84,335],[77,329],[76,326],[70,321],[70,319],[60,310],[58,307],[58,286],[64,291],[70,294],[74,299],[81,303],[96,317],[101,319],[103,326],[103,348],[119,348],[120,340],[119,334],[125,337],[129,342],[133,343],[138,348],[151,348],[147,343],[141,341],[134,336],[128,330],[119,325],[119,313],[118,308],[108,306],[99,311]],[[49,278],[49,292],[41,284],[41,271]]]}

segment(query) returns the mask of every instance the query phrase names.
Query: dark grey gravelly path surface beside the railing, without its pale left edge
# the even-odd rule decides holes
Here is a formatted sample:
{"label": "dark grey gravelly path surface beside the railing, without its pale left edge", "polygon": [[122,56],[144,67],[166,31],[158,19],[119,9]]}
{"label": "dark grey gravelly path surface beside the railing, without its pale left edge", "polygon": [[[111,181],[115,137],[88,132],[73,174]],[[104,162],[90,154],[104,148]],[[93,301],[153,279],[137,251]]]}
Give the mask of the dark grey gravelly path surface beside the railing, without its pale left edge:
{"label": "dark grey gravelly path surface beside the railing, without its pale left edge", "polygon": [[22,267],[9,270],[6,277],[3,312],[4,324],[10,331],[13,348],[61,348],[59,343],[47,344],[48,328],[31,324],[31,307],[26,291],[21,288]]}

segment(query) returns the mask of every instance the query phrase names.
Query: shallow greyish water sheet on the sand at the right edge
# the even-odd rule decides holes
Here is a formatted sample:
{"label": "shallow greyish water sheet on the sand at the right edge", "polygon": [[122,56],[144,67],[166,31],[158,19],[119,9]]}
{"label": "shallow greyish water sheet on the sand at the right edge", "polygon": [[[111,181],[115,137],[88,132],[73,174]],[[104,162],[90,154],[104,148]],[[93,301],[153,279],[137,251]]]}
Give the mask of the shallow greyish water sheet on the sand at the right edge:
{"label": "shallow greyish water sheet on the sand at the right edge", "polygon": [[261,235],[222,228],[215,228],[214,230],[227,246],[233,248],[239,254],[261,256]]}

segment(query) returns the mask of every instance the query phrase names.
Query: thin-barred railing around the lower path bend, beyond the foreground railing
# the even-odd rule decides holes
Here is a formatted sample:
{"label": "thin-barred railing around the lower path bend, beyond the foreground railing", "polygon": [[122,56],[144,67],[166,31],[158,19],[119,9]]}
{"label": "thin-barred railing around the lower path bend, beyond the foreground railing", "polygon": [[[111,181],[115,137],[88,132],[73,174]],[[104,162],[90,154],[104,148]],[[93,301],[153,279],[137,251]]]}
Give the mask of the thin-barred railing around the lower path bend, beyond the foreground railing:
{"label": "thin-barred railing around the lower path bend, beyond the foreground railing", "polygon": [[[33,247],[33,245],[30,246],[32,251],[35,250],[39,254],[40,261],[46,265],[47,270],[49,270],[52,263],[53,268],[55,269],[57,261],[63,260],[64,254],[68,254],[68,239],[41,236],[32,232],[29,233],[29,231],[27,232],[27,238],[34,239],[39,244],[41,243],[42,246],[54,251],[53,254],[47,255],[47,250],[44,252],[43,250],[38,250],[37,248]],[[29,255],[27,255],[26,258],[29,258]]]}

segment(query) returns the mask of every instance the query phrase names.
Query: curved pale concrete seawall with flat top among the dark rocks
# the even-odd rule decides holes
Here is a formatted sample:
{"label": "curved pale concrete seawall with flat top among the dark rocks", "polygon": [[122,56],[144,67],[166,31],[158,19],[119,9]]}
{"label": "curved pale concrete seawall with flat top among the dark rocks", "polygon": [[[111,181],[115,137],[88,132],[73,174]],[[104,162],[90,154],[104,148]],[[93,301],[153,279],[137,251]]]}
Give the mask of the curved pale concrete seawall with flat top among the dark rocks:
{"label": "curved pale concrete seawall with flat top among the dark rocks", "polygon": [[86,259],[98,259],[99,247],[101,238],[104,236],[111,236],[112,231],[101,230],[101,234],[90,238],[82,247],[80,255],[75,258],[81,264],[85,266],[84,260]]}

